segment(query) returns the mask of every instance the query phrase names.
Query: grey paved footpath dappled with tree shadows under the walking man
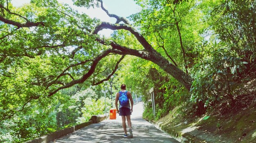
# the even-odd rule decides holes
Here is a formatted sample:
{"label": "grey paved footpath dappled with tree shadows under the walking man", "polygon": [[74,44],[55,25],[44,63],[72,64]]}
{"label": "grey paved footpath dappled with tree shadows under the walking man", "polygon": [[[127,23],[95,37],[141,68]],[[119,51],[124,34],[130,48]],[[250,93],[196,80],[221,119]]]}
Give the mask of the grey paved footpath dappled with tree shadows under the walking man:
{"label": "grey paved footpath dappled with tree shadows under the walking man", "polygon": [[117,119],[106,119],[91,124],[51,143],[180,143],[142,119],[142,102],[135,104],[133,108],[131,115],[133,138],[123,137],[121,116],[117,114]]}

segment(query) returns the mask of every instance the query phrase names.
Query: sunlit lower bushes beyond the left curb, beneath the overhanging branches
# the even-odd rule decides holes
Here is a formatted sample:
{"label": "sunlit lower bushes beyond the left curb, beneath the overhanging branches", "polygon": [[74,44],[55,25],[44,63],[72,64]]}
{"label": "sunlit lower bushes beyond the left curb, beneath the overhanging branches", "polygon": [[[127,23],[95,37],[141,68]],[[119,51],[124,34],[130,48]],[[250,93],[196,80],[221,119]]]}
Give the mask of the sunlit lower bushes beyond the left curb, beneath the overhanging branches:
{"label": "sunlit lower bushes beyond the left curb, beneath the overhanging branches", "polygon": [[[104,95],[97,89],[72,87],[47,98],[44,102],[30,102],[15,116],[1,121],[1,142],[22,142],[49,132],[89,121],[92,115],[105,114]],[[99,91],[100,92],[100,91]],[[99,98],[101,96],[101,98]],[[106,98],[106,111],[111,108],[110,94]]]}

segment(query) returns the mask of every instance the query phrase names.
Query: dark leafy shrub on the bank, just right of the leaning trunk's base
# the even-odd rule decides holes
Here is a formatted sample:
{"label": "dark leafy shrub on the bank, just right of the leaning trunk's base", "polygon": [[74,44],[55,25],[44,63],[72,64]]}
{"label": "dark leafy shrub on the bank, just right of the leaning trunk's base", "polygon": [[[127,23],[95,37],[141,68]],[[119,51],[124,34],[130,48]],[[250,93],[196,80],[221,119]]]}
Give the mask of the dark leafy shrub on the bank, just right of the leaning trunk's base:
{"label": "dark leafy shrub on the bank, just right of the leaning trunk's base", "polygon": [[205,111],[203,108],[213,106],[221,99],[234,104],[234,95],[240,88],[236,79],[245,69],[245,64],[228,48],[215,50],[212,57],[196,64],[190,98],[198,105],[196,110]]}

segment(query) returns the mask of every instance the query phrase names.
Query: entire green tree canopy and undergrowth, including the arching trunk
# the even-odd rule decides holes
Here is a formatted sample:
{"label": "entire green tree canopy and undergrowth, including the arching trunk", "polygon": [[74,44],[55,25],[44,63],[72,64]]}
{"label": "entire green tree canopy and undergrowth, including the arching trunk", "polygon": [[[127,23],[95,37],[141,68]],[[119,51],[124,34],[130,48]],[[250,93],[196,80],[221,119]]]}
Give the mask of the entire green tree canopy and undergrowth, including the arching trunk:
{"label": "entire green tree canopy and undergrowth, including the arching trunk", "polygon": [[[57,0],[13,7],[0,0],[0,141],[20,142],[87,121],[125,83],[156,119],[175,106],[202,115],[236,106],[241,82],[256,73],[255,0],[135,0],[139,13],[90,18]],[[104,2],[104,0],[103,0]],[[102,29],[111,37],[100,37]],[[132,56],[126,56],[132,55]],[[111,90],[111,89],[112,90]],[[115,98],[114,98],[115,99]]]}

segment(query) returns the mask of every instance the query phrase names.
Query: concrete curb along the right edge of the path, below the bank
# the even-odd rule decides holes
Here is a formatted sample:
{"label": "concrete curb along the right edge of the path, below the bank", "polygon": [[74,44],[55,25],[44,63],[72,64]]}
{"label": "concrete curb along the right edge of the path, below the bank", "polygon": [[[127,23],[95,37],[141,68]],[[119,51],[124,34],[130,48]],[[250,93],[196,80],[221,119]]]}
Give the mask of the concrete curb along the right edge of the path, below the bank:
{"label": "concrete curb along the right edge of the path, below the bank", "polygon": [[170,134],[171,137],[173,137],[177,141],[180,141],[181,143],[203,143],[203,141],[204,141],[202,139],[196,138],[195,136],[193,136],[193,135],[191,135],[187,132],[182,134],[181,132],[178,132],[178,131],[175,131],[175,130],[166,130],[159,123],[157,124],[153,121],[149,121],[149,123],[153,124],[159,130],[161,130],[161,131],[163,131],[167,134]]}

